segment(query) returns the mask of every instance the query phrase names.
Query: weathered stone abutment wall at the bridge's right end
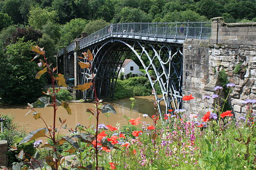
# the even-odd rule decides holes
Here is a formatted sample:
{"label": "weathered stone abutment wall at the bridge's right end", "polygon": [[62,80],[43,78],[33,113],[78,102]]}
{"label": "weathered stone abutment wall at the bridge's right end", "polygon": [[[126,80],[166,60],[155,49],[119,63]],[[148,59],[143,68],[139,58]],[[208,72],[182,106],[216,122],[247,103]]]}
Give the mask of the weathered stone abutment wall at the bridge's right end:
{"label": "weathered stone abutment wall at the bridge's right end", "polygon": [[[192,110],[205,113],[203,95],[214,94],[213,87],[220,85],[218,73],[225,70],[228,80],[236,84],[229,104],[236,117],[245,116],[243,101],[256,99],[256,23],[224,23],[213,18],[209,40],[186,40],[183,47],[183,94],[192,94]],[[241,64],[240,72],[234,68]],[[237,66],[238,65],[238,66]],[[208,100],[210,106],[214,100]],[[189,103],[183,107],[191,112]],[[256,113],[256,105],[253,108]]]}

